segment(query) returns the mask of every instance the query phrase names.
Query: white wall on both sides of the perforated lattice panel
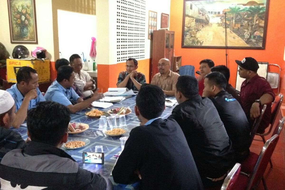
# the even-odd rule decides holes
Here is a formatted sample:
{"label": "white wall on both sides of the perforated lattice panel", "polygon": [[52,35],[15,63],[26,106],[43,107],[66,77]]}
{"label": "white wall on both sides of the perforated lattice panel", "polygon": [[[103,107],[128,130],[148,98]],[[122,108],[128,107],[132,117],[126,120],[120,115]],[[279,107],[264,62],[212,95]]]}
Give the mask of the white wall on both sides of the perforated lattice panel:
{"label": "white wall on both sides of the perforated lattice panel", "polygon": [[[150,58],[150,40],[148,39],[148,11],[157,12],[157,30],[160,29],[161,13],[170,15],[170,0],[146,0],[145,10],[145,58]],[[114,0],[96,0],[97,17],[97,63],[117,64],[116,20],[117,7]],[[170,23],[169,23],[170,24]]]}

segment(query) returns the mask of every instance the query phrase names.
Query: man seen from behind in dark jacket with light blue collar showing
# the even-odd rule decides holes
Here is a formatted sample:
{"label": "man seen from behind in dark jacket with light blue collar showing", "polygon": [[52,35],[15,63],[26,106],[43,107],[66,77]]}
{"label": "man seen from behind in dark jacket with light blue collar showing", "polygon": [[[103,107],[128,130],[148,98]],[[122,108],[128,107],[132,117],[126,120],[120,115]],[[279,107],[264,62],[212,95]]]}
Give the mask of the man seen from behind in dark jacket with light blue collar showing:
{"label": "man seen from behind in dark jacket with light blue collar showing", "polygon": [[164,109],[163,91],[142,85],[135,106],[141,126],[131,130],[113,169],[113,179],[127,184],[140,178],[140,189],[147,190],[203,189],[181,128],[173,119],[160,118]]}

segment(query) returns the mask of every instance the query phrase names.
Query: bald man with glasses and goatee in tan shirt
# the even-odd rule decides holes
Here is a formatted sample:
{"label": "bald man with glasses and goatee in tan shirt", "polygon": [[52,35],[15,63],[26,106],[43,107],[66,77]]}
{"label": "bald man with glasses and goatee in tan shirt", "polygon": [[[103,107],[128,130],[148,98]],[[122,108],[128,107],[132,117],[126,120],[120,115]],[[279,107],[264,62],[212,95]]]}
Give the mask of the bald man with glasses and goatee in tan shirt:
{"label": "bald man with glasses and goatee in tan shirt", "polygon": [[167,96],[174,96],[176,82],[180,76],[178,73],[170,71],[170,61],[162,58],[158,61],[159,73],[156,73],[151,84],[160,87]]}

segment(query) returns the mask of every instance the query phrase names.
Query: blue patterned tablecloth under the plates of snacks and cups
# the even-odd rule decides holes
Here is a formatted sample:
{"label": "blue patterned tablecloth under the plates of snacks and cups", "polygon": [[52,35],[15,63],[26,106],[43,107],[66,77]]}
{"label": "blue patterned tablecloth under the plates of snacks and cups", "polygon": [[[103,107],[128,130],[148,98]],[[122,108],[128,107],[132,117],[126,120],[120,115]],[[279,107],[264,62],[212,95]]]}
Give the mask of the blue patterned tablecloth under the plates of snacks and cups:
{"label": "blue patterned tablecloth under the plates of snacks and cups", "polygon": [[[129,132],[131,129],[133,129],[136,126],[139,126],[139,120],[137,119],[137,116],[135,115],[134,107],[135,107],[135,98],[136,96],[133,96],[129,99],[125,99],[124,101],[121,101],[119,103],[114,103],[113,106],[106,108],[106,109],[100,109],[102,111],[108,111],[113,108],[117,107],[130,107],[132,110],[132,113],[129,115],[126,115],[126,123],[127,123],[127,129],[128,132],[125,133],[123,136],[129,136]],[[168,97],[168,99],[175,99],[175,97]],[[175,104],[177,105],[177,103]],[[162,113],[161,117],[163,119],[166,119],[172,112],[172,109],[175,107],[166,107],[164,112]],[[150,107],[151,109],[151,107]],[[124,185],[124,184],[117,184],[113,181],[113,178],[110,177],[112,168],[117,160],[117,157],[115,155],[118,155],[118,153],[121,151],[121,143],[119,138],[120,137],[109,137],[106,136],[101,130],[98,130],[99,126],[99,119],[97,118],[89,118],[84,115],[86,111],[90,111],[90,109],[84,109],[76,114],[71,114],[71,122],[80,122],[80,123],[86,123],[89,125],[89,129],[86,131],[80,133],[80,134],[69,134],[68,140],[76,139],[76,138],[87,138],[90,140],[90,143],[82,148],[78,148],[75,150],[67,150],[65,148],[62,148],[65,150],[69,155],[78,162],[79,166],[87,169],[94,173],[100,173],[101,175],[104,175],[106,177],[109,177],[109,179],[114,184],[114,189],[139,189],[139,182],[135,182],[133,184]],[[19,129],[15,129],[17,132],[21,134],[24,140],[27,139],[27,124],[24,123]],[[94,152],[96,145],[103,145],[103,151],[105,156],[105,163],[104,164],[83,164],[82,163],[82,152]]]}

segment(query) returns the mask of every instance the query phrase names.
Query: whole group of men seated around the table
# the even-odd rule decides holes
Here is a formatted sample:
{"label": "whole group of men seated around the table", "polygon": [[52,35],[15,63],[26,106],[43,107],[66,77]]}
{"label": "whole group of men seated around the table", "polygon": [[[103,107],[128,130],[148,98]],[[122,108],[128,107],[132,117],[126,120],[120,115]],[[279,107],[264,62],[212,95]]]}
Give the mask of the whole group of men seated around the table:
{"label": "whole group of men seated around the table", "polygon": [[[236,63],[240,77],[245,78],[240,96],[229,84],[229,69],[214,66],[212,60],[200,62],[201,76],[196,79],[171,71],[170,61],[162,58],[159,73],[146,84],[143,73],[136,71],[137,60],[129,58],[117,87],[139,90],[134,110],[140,126],[130,132],[113,169],[114,181],[140,180],[141,189],[221,185],[233,165],[249,155],[250,130],[264,104],[268,106],[258,133],[268,126],[275,98],[269,83],[257,74],[254,58]],[[0,184],[112,189],[109,179],[79,168],[59,149],[67,141],[70,113],[89,107],[103,94],[82,70],[77,54],[69,62],[57,60],[56,70],[57,78],[44,96],[36,71],[29,67],[19,69],[17,83],[10,89],[0,90]],[[160,117],[165,95],[175,96],[178,102],[168,119]],[[27,143],[9,129],[19,128],[25,119]]]}

